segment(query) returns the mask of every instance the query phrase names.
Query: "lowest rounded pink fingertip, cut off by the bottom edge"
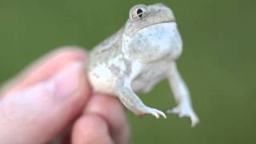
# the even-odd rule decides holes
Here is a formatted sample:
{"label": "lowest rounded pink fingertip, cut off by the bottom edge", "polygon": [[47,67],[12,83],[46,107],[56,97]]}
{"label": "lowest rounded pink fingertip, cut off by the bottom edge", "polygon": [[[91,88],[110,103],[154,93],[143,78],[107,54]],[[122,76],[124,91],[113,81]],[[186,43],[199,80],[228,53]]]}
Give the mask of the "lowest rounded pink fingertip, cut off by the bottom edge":
{"label": "lowest rounded pink fingertip, cut off by the bottom edge", "polygon": [[109,126],[97,114],[86,114],[74,124],[73,144],[113,144]]}

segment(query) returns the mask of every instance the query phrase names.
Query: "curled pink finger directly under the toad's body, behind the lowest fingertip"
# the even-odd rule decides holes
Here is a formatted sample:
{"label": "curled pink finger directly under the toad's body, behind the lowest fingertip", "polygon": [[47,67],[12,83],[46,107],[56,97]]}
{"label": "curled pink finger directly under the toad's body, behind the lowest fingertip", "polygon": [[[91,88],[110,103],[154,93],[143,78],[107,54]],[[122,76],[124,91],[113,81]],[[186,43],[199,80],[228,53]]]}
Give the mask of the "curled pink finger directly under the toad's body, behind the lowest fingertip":
{"label": "curled pink finger directly under the toad's body, behind the lowest fingertip", "polygon": [[128,143],[129,128],[126,114],[121,102],[114,96],[94,94],[88,102],[84,114],[102,116],[110,127],[110,135],[114,142]]}

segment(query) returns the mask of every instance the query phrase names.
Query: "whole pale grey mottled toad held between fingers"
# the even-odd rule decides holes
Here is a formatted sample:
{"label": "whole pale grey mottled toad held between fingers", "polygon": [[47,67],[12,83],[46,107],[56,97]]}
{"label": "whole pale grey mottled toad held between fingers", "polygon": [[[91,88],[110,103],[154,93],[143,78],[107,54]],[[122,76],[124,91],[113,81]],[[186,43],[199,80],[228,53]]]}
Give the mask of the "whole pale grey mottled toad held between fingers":
{"label": "whole pale grey mottled toad held between fingers", "polygon": [[[138,9],[143,12],[141,16]],[[175,64],[181,53],[182,39],[170,8],[159,3],[134,6],[126,25],[90,52],[87,69],[91,85],[97,92],[116,95],[134,114],[166,118],[135,93],[146,93],[168,78],[178,106],[166,112],[187,116],[194,126],[198,116]]]}

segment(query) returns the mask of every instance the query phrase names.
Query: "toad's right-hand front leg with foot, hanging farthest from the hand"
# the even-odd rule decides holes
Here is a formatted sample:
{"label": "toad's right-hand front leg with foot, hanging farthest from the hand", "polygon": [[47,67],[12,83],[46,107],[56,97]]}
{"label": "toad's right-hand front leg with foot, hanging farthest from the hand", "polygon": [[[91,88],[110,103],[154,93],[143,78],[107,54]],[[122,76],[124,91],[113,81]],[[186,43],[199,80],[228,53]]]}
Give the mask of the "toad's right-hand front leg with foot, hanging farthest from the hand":
{"label": "toad's right-hand front leg with foot, hanging farthest from the hand", "polygon": [[171,89],[174,92],[175,101],[178,102],[178,106],[173,109],[166,110],[166,113],[178,114],[180,117],[189,117],[192,122],[192,126],[195,126],[199,122],[199,119],[197,114],[194,113],[191,105],[189,90],[179,75],[177,66],[174,62],[170,64],[167,77],[170,82]]}

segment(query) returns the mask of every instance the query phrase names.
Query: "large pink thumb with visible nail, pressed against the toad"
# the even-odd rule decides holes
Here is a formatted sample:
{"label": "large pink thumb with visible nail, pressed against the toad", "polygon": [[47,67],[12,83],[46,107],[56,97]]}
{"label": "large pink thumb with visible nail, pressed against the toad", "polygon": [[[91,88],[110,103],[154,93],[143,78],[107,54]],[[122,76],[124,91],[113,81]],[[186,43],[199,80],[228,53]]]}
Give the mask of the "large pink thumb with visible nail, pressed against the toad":
{"label": "large pink thumb with visible nail, pressed against the toad", "polygon": [[0,143],[45,143],[82,111],[90,88],[82,63],[0,99]]}

